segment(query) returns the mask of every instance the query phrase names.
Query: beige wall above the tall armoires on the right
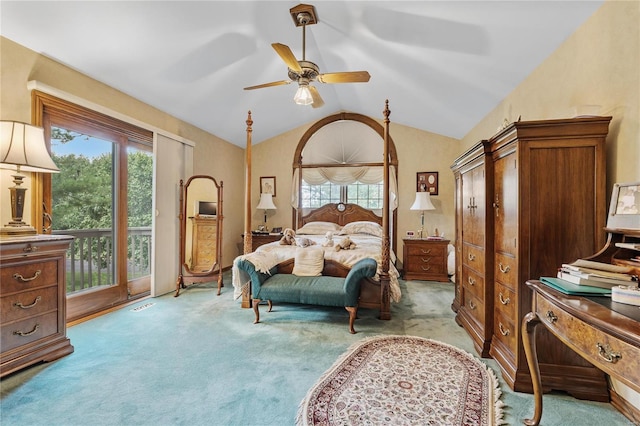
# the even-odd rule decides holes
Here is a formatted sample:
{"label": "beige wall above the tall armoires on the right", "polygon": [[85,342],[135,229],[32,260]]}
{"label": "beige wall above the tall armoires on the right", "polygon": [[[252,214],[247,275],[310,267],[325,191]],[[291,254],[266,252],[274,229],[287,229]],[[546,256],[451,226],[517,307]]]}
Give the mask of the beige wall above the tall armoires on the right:
{"label": "beige wall above the tall armoires on the right", "polygon": [[575,116],[600,105],[611,115],[607,186],[640,181],[640,2],[609,0],[462,140],[464,148],[496,133],[506,118]]}

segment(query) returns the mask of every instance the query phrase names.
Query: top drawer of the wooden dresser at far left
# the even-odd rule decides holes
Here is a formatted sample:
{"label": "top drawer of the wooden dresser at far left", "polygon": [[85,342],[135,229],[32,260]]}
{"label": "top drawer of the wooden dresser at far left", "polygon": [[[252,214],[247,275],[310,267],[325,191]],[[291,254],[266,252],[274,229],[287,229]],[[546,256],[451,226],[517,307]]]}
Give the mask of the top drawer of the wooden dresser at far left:
{"label": "top drawer of the wooden dresser at far left", "polygon": [[58,262],[55,260],[21,264],[6,263],[0,270],[2,296],[55,285],[58,282]]}

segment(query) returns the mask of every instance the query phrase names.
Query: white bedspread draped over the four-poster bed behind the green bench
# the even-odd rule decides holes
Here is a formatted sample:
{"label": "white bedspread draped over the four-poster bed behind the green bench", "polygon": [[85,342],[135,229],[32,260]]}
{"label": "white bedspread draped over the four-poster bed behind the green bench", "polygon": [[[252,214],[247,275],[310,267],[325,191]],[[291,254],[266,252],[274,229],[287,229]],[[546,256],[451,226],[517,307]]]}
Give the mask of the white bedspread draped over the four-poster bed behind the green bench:
{"label": "white bedspread draped over the four-poster bed behind the green bench", "polygon": [[[304,237],[315,241],[317,243],[317,246],[322,246],[322,242],[324,241],[323,235],[304,235]],[[346,235],[334,235],[334,244],[339,243],[343,238],[346,237]],[[349,238],[351,238],[351,240],[356,243],[356,248],[351,250],[336,251],[335,246],[324,247],[325,259],[331,259],[336,262],[342,263],[343,265],[351,267],[358,260],[365,257],[371,257],[375,259],[376,262],[378,262],[378,272],[374,277],[375,280],[378,280],[379,274],[382,271],[382,240],[378,237],[365,234],[352,234],[349,235]],[[238,256],[233,262],[232,269],[234,298],[237,299],[242,295],[242,284],[249,281],[248,275],[246,275],[244,271],[240,271],[236,266],[236,261],[238,259],[248,259],[249,261],[251,261],[251,263],[256,265],[256,267],[259,267],[259,270],[265,271],[264,268],[266,268],[266,271],[268,271],[269,268],[282,261],[293,259],[295,257],[296,249],[297,246],[281,245],[276,241],[274,243],[269,243],[258,247],[258,249],[254,253]],[[392,252],[390,258],[391,262],[389,264],[389,293],[391,296],[391,301],[398,302],[400,301],[402,293],[400,291],[400,284],[398,283],[398,277],[400,274],[398,273],[398,270],[394,265],[396,261],[395,253]]]}

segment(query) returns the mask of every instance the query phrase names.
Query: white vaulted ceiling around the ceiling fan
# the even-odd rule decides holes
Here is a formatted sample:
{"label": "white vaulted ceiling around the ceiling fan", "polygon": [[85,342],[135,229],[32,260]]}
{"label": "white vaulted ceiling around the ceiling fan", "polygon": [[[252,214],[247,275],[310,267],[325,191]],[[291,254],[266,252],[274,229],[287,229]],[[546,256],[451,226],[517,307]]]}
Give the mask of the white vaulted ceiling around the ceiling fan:
{"label": "white vaulted ceiling around the ceiling fan", "polygon": [[[308,2],[311,3],[311,2]],[[315,83],[293,103],[271,43],[302,59],[298,1],[4,1],[0,33],[233,144],[339,111],[463,137],[603,1],[314,1],[306,59],[368,83]],[[2,65],[3,67],[6,64]]]}

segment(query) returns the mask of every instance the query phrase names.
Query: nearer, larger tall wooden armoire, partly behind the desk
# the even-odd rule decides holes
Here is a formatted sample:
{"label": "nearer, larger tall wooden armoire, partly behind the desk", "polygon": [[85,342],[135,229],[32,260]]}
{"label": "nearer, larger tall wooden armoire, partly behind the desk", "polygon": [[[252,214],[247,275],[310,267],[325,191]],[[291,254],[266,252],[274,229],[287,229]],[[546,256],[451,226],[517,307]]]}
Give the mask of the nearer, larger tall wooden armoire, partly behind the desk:
{"label": "nearer, larger tall wooden armoire, partly behind the desk", "polygon": [[[490,354],[516,391],[531,392],[520,333],[525,282],[603,246],[605,139],[611,117],[517,122],[490,140],[493,159],[494,324]],[[608,401],[604,374],[550,333],[537,340],[542,382]]]}

